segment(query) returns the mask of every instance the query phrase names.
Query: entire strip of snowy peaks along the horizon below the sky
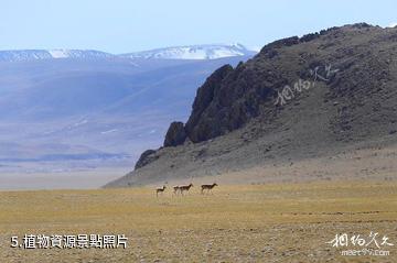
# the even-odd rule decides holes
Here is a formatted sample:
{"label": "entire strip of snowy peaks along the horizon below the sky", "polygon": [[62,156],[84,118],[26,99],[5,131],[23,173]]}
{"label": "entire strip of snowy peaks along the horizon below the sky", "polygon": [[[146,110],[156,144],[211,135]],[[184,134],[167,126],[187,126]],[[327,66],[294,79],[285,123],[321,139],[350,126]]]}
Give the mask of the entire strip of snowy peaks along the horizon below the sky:
{"label": "entire strip of snowy peaks along the horizon below the sky", "polygon": [[0,51],[0,62],[29,62],[55,58],[216,59],[233,56],[251,56],[255,54],[255,51],[250,51],[242,44],[176,46],[121,55],[114,55],[110,53],[90,50],[23,50]]}

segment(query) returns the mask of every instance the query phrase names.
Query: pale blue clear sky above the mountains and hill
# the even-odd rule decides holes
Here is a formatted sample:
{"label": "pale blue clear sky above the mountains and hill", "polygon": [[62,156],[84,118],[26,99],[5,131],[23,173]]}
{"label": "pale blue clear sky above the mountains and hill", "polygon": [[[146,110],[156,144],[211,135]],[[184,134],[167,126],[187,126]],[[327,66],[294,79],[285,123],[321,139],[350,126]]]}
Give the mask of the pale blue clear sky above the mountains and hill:
{"label": "pale blue clear sky above the mountains and hill", "polygon": [[367,22],[397,23],[396,0],[0,0],[0,50],[81,48],[121,54],[242,43]]}

